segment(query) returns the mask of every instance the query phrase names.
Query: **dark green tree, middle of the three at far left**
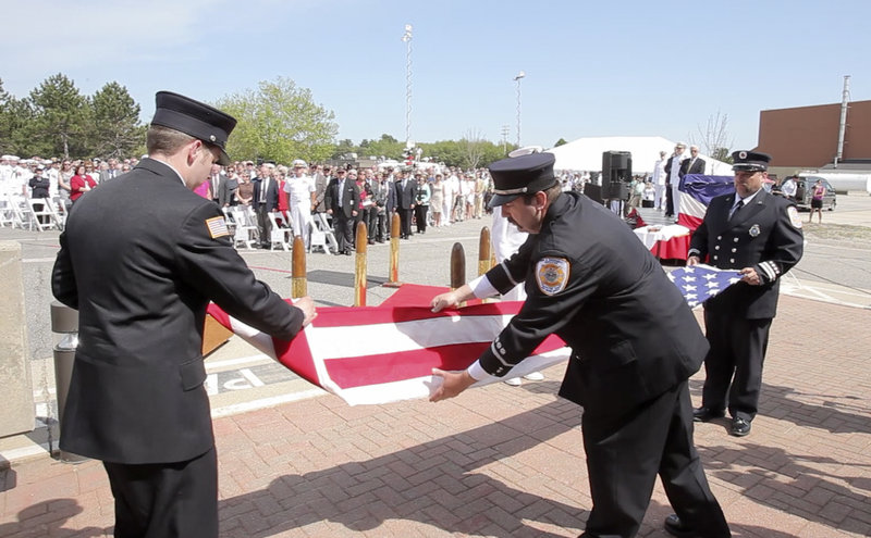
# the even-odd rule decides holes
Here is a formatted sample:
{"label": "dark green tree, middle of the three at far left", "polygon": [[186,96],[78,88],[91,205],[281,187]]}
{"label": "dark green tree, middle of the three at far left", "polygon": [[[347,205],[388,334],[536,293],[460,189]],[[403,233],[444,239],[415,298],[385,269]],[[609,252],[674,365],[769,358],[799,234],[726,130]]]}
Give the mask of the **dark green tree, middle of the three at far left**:
{"label": "dark green tree, middle of the three at far left", "polygon": [[90,107],[73,80],[58,73],[30,91],[35,153],[69,159],[93,153],[88,143]]}

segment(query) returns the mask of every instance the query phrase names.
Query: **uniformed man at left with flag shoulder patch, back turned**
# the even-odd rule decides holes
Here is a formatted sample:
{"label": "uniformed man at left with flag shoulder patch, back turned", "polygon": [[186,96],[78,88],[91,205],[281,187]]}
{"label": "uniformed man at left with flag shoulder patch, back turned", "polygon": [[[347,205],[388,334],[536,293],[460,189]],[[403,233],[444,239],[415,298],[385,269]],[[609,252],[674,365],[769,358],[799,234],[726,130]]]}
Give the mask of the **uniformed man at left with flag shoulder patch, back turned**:
{"label": "uniformed man at left with flag shoulder patch, back turned", "polygon": [[236,121],[161,91],[149,158],[76,202],[60,237],[54,297],[78,310],[79,345],[60,447],[102,460],[118,538],[218,536],[218,466],[204,387],[214,301],[292,339],[315,314],[255,279],[214,203],[193,192]]}

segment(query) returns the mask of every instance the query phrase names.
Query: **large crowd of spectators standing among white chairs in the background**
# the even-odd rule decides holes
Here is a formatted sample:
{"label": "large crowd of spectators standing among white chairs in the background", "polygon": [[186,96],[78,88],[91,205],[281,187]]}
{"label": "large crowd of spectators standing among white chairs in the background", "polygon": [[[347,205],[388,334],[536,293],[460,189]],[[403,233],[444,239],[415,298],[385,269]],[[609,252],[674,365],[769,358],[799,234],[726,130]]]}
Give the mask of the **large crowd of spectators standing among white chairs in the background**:
{"label": "large crowd of spectators standing among white chairs in the background", "polygon": [[[130,172],[139,159],[0,159],[0,198],[56,199],[70,209],[86,192]],[[588,172],[563,171],[559,174],[563,190],[584,191],[590,183]],[[348,215],[340,215],[340,197],[335,189],[343,180],[353,179],[358,200]],[[272,220],[291,228],[310,248],[315,220],[323,214],[342,243],[340,253],[349,254],[355,245],[356,228],[366,223],[368,242],[385,242],[390,238],[390,221],[398,213],[401,237],[425,234],[428,227],[445,227],[467,220],[480,220],[491,211],[487,202],[493,184],[487,168],[463,170],[420,163],[416,166],[357,167],[355,165],[308,164],[297,159],[289,165],[271,161],[235,161],[226,166],[212,166],[209,180],[195,191],[214,201],[221,209],[250,208],[258,227],[258,247],[270,248]],[[331,196],[332,195],[332,196]],[[229,212],[228,212],[229,213]],[[353,214],[352,214],[353,213]]]}

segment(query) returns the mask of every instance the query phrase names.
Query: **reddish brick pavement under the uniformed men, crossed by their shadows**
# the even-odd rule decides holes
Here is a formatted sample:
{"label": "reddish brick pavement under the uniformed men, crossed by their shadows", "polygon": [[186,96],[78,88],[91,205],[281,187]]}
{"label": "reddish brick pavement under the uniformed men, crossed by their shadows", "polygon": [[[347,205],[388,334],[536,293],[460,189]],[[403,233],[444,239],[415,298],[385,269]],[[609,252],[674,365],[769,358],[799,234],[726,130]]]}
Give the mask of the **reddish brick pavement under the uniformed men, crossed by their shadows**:
{"label": "reddish brick pavement under the uniformed men, crossed by their shadows", "polygon": [[[871,535],[871,311],[781,298],[761,414],[696,442],[736,537]],[[580,410],[547,380],[431,404],[324,396],[214,421],[221,536],[573,537],[591,505]],[[699,401],[702,375],[691,380]],[[658,485],[639,536],[666,536]],[[0,537],[111,536],[96,462],[0,472]]]}

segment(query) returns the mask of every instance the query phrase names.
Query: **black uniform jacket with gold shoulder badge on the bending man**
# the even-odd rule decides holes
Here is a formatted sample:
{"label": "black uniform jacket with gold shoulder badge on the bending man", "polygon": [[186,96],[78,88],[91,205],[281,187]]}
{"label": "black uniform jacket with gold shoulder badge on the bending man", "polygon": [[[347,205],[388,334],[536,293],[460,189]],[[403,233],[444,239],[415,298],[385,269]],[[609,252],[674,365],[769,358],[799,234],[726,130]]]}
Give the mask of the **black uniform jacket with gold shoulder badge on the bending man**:
{"label": "black uniform jacket with gold shoulder badge on the bending man", "polygon": [[505,375],[555,333],[574,351],[560,396],[585,415],[618,415],[662,395],[698,371],[708,350],[653,255],[619,218],[576,192],[556,198],[540,233],[487,278],[500,292],[525,281],[528,298],[480,356],[483,370]]}

